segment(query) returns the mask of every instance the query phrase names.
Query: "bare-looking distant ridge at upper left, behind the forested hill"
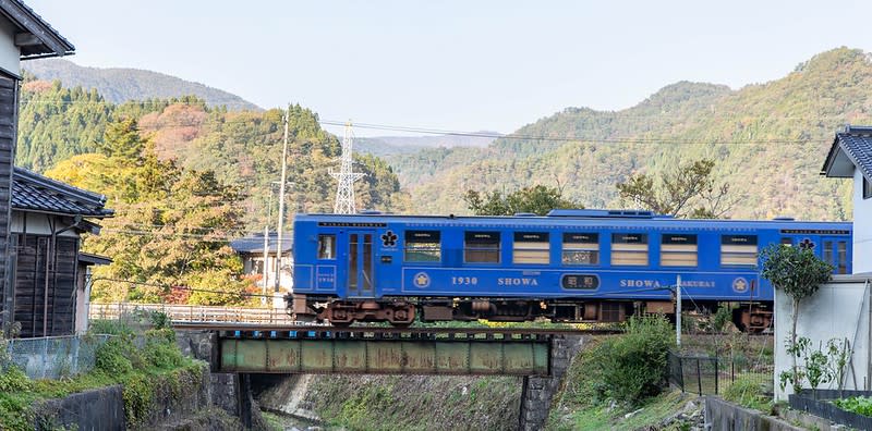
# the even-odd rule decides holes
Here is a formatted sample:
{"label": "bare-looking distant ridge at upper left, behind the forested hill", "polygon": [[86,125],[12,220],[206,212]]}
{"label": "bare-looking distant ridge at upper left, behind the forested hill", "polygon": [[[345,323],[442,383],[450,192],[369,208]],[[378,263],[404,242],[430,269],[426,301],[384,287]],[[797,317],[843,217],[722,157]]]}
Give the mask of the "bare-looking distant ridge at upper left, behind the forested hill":
{"label": "bare-looking distant ridge at upper left, behind the forested hill", "polygon": [[64,87],[96,88],[113,103],[129,100],[168,99],[196,96],[209,107],[226,106],[232,111],[261,111],[262,108],[230,93],[159,72],[128,67],[86,67],[69,60],[28,61],[24,69],[39,79],[59,79]]}

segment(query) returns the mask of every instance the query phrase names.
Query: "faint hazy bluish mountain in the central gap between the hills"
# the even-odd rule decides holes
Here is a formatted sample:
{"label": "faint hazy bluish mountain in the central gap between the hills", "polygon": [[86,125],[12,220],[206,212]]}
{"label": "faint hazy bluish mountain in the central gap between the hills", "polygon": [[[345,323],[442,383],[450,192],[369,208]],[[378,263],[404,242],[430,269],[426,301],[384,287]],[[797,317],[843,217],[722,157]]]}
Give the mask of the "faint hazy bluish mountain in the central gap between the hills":
{"label": "faint hazy bluish mountain in the central gap between the hills", "polygon": [[434,135],[434,136],[377,136],[354,138],[354,149],[374,156],[412,153],[425,148],[475,147],[491,145],[496,132],[476,132],[470,135]]}

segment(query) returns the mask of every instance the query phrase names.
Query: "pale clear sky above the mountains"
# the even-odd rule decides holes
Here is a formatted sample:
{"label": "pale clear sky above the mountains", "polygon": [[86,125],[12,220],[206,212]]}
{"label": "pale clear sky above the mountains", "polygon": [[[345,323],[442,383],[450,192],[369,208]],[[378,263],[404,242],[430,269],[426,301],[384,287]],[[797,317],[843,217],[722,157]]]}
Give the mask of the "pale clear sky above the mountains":
{"label": "pale clear sky above the mountains", "polygon": [[[322,120],[467,132],[620,110],[679,81],[737,89],[825,50],[872,50],[870,1],[24,1],[80,65]],[[355,128],[386,134],[398,133]]]}

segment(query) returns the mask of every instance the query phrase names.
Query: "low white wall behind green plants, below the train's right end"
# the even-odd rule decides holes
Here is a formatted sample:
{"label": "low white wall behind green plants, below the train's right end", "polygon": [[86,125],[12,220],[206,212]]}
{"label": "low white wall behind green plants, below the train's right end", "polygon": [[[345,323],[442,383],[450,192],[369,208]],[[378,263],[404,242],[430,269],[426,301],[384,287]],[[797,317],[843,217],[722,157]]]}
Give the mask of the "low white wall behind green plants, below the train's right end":
{"label": "low white wall behind green plants, below the train's right end", "polygon": [[[852,367],[848,367],[844,389],[869,390],[872,375],[870,364],[870,291],[867,278],[836,275],[833,282],[821,286],[810,298],[800,304],[797,335],[811,340],[814,347],[831,338],[847,338],[853,348]],[[792,299],[783,291],[775,291],[775,399],[787,399],[792,387],[788,383],[782,391],[778,375],[790,369],[791,359],[785,342],[790,338],[792,324]],[[800,362],[801,364],[801,362]],[[837,389],[836,383],[822,384],[819,389]]]}

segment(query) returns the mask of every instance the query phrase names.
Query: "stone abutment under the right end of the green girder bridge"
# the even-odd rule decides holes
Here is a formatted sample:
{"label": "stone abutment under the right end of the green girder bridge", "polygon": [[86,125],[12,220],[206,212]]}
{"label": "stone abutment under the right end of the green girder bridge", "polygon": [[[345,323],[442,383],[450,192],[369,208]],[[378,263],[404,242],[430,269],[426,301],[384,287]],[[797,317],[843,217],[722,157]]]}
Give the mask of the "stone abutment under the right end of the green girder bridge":
{"label": "stone abutment under the right end of the green girder bridge", "polygon": [[552,398],[560,389],[572,358],[581,350],[581,335],[555,335],[552,341],[552,364],[549,377],[525,377],[521,390],[521,411],[518,429],[535,431],[545,428]]}

